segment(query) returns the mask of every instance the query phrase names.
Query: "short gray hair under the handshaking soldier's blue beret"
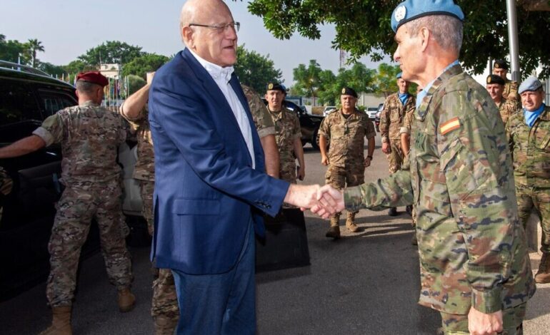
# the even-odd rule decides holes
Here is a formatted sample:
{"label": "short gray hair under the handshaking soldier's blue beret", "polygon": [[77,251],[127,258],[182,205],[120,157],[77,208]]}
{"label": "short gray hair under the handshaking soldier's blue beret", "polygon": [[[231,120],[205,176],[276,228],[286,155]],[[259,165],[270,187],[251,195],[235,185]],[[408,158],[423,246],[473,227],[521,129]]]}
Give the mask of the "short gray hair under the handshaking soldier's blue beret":
{"label": "short gray hair under the handshaking soldier's blue beret", "polygon": [[420,29],[426,27],[441,48],[457,54],[462,46],[462,26],[462,21],[448,15],[424,16],[406,23],[409,36],[418,35]]}

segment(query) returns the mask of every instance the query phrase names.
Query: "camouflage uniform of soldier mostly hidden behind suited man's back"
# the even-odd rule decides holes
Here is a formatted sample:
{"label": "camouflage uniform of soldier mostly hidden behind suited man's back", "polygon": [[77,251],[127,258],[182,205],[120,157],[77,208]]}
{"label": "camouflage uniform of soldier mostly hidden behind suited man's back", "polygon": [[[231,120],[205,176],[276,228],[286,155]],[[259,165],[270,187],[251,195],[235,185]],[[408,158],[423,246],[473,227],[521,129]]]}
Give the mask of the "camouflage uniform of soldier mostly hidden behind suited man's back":
{"label": "camouflage uniform of soldier mostly hidden behind suited man's back", "polygon": [[[141,195],[141,212],[147,221],[147,230],[153,236],[153,193],[155,189],[154,150],[149,128],[149,110],[144,108],[134,119],[129,119],[137,131],[138,161],[134,170],[134,179],[139,180]],[[179,306],[174,287],[174,277],[169,269],[159,269],[153,279],[153,297],[151,299],[151,316],[164,316],[171,320],[179,319]]]}

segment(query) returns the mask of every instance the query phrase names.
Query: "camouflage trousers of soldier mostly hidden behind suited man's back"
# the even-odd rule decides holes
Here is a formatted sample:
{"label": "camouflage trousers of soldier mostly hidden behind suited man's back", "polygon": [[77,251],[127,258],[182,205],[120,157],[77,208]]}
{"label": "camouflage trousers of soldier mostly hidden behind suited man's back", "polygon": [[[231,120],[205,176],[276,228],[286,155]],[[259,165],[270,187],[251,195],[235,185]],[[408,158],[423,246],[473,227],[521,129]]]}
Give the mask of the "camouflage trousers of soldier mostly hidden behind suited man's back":
{"label": "camouflage trousers of soldier mostly hidden behind suited man's back", "polygon": [[[154,232],[153,222],[153,192],[155,182],[139,180],[141,200],[143,202],[143,215],[147,221],[149,234]],[[164,316],[177,321],[179,319],[178,297],[174,286],[174,276],[170,269],[154,270],[153,299],[151,301],[151,316]]]}

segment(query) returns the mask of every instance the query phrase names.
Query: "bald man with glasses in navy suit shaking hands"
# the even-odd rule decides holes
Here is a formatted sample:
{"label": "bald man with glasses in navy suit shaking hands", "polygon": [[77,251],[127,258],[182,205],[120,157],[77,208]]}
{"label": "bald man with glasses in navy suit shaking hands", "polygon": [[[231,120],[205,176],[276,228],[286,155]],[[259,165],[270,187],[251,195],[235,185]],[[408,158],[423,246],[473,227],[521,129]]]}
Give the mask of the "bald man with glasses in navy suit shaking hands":
{"label": "bald man with glasses in navy suit shaking hands", "polygon": [[282,202],[336,203],[318,185],[264,172],[264,153],[233,73],[239,23],[220,0],[181,9],[186,48],[156,72],[149,96],[155,154],[151,258],[172,269],[178,334],[254,334],[254,233]]}

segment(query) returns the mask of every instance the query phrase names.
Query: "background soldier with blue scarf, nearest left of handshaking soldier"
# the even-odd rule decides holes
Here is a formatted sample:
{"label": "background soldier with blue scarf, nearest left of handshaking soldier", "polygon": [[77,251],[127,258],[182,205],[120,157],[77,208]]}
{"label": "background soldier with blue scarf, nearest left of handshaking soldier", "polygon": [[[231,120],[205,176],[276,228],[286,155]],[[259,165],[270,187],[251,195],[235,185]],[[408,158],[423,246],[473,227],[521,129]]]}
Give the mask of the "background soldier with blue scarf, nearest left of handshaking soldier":
{"label": "background soldier with blue scarf, nearest left of handshaking soldier", "polygon": [[[409,94],[409,82],[397,75],[399,91],[391,94],[384,102],[384,109],[380,113],[380,133],[382,135],[382,152],[386,154],[389,163],[389,174],[401,169],[403,150],[401,150],[401,135],[399,130],[403,124],[405,114],[414,109],[416,99]],[[396,207],[390,207],[389,216],[396,216]]]}

